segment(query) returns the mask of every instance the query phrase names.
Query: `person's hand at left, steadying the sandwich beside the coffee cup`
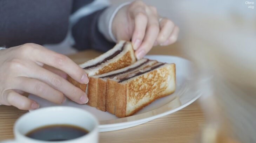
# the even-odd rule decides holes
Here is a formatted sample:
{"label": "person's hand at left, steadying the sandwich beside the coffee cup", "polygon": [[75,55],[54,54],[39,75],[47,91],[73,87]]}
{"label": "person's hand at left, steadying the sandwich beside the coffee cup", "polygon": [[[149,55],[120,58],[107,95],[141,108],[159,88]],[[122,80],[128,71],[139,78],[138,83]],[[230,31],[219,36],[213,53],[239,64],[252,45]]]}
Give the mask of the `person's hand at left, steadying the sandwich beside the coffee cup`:
{"label": "person's hand at left, steadying the sandwich beside the coffee cup", "polygon": [[43,65],[60,69],[79,83],[89,82],[85,71],[65,55],[38,44],[23,44],[0,50],[0,104],[21,110],[38,108],[38,103],[21,95],[23,92],[57,104],[65,101],[65,96],[79,104],[88,102],[85,92]]}

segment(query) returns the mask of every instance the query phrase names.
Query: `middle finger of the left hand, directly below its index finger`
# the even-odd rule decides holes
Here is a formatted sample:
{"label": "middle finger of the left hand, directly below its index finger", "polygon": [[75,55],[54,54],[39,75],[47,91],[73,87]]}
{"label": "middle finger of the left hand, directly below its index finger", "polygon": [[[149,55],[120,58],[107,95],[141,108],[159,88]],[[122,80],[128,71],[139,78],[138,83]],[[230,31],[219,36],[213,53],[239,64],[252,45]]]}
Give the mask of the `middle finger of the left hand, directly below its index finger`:
{"label": "middle finger of the left hand, directly below its index finger", "polygon": [[[29,78],[35,78],[42,82],[45,82],[49,86],[52,86],[54,89],[62,92],[65,96],[70,98],[79,104],[85,104],[88,102],[87,95],[78,87],[74,86],[64,78],[56,75],[42,67],[35,66],[35,70],[30,71]],[[35,72],[36,71],[36,72]]]}

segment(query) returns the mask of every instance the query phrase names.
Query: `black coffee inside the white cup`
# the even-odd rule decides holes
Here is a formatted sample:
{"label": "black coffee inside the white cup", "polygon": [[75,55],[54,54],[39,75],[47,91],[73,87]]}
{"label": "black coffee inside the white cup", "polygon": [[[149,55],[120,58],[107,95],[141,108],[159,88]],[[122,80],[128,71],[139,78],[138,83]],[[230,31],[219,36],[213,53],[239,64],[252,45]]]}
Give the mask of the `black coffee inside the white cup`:
{"label": "black coffee inside the white cup", "polygon": [[87,130],[73,125],[50,125],[29,131],[26,136],[41,141],[67,141],[87,133]]}

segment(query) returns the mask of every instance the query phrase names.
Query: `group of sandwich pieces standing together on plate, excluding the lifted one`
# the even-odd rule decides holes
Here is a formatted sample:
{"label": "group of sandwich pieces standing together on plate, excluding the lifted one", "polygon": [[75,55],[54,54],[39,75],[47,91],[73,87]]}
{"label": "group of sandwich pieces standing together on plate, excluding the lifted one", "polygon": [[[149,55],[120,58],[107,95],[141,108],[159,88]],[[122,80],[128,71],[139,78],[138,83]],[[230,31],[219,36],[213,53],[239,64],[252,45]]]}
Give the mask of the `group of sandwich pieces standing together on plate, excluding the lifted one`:
{"label": "group of sandwich pieces standing together on plate, excluding the lifted one", "polygon": [[117,117],[130,116],[175,91],[175,64],[141,59],[128,67],[92,76],[95,105]]}

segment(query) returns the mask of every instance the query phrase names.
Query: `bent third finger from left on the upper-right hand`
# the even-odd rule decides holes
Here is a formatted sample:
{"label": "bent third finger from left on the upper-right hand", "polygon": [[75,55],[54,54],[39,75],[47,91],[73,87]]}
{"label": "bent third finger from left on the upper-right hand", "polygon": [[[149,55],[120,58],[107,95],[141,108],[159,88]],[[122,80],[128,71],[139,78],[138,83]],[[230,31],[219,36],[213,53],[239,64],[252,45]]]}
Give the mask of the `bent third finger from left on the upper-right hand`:
{"label": "bent third finger from left on the upper-right hand", "polygon": [[156,39],[157,44],[164,45],[168,44],[165,43],[168,38],[171,36],[175,28],[175,25],[172,21],[168,20],[167,18],[163,18],[162,21],[160,21],[160,32]]}

